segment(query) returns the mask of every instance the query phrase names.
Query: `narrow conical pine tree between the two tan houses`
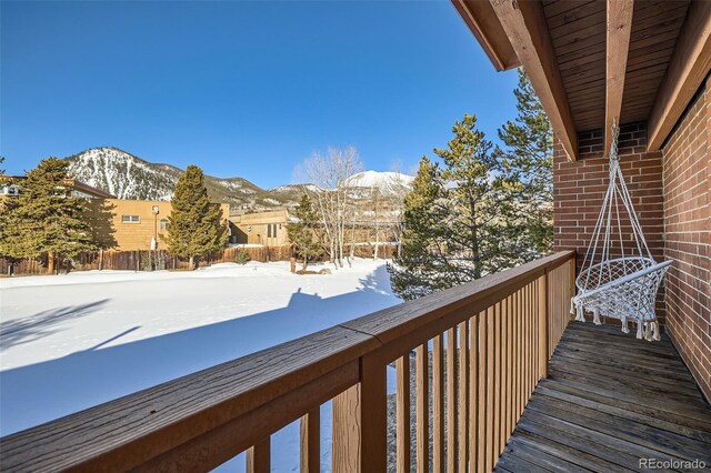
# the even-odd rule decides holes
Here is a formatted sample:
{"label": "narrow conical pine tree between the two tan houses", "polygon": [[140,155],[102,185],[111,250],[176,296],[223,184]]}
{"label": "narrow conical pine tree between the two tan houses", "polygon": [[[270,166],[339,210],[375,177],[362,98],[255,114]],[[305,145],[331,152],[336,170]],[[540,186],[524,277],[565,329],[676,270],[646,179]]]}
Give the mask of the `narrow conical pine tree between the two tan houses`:
{"label": "narrow conical pine tree between the two tan houses", "polygon": [[189,258],[196,269],[200,258],[224,246],[227,232],[220,223],[222,210],[210,202],[204,175],[197,165],[189,165],[176,184],[172,212],[168,217],[168,251]]}

